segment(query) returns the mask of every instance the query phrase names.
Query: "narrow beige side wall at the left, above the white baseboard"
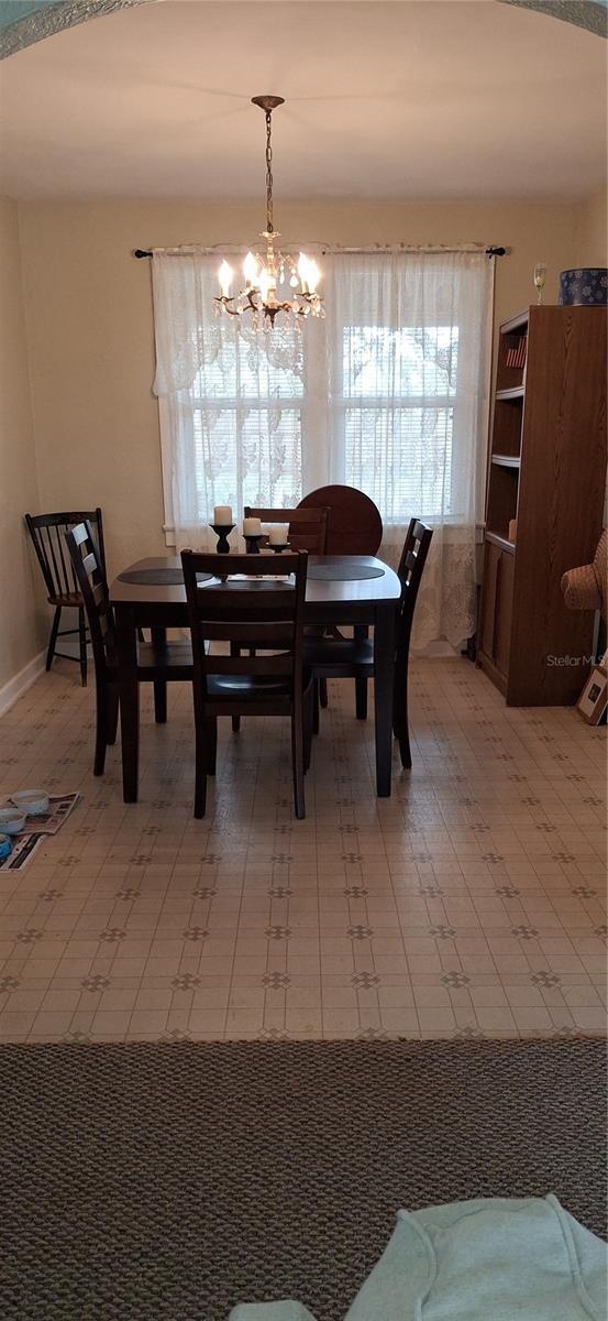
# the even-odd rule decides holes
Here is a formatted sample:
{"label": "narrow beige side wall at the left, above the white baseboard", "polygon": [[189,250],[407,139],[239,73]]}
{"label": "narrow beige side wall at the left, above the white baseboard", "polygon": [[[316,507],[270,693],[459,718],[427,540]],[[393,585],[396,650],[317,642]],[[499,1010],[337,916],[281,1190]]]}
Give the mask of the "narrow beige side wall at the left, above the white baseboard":
{"label": "narrow beige side wall at the left, above the white baseboard", "polygon": [[0,198],[0,700],[44,646],[40,588],[24,528],[38,510],[17,205]]}

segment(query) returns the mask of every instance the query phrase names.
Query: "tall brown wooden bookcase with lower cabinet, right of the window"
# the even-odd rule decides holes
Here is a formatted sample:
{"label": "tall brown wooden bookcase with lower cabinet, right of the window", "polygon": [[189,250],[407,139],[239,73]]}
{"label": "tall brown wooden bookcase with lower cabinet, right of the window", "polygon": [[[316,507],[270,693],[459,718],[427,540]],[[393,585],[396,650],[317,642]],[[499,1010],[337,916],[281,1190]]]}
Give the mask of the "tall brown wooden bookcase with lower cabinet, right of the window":
{"label": "tall brown wooden bookcase with lower cabinet, right of the window", "polygon": [[[525,366],[508,366],[522,339]],[[593,614],[567,610],[559,584],[601,531],[605,361],[607,308],[533,306],[500,328],[477,664],[512,707],[570,705],[590,671]]]}

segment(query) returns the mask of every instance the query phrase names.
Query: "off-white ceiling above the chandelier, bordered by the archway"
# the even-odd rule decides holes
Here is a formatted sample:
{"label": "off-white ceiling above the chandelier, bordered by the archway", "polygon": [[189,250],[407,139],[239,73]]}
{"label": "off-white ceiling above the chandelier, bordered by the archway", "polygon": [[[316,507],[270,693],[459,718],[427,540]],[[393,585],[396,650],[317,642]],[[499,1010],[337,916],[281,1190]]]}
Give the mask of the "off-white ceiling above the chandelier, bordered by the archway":
{"label": "off-white ceiling above the chandelier, bordered by the archway", "polygon": [[605,42],[493,0],[164,0],[0,65],[3,192],[586,197],[605,170]]}

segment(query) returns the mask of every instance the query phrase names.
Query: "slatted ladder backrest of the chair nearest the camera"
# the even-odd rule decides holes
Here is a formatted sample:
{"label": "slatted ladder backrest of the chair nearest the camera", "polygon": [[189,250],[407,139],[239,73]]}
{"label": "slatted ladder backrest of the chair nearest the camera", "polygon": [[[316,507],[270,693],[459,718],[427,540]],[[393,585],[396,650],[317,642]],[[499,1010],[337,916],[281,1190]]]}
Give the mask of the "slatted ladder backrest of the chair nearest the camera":
{"label": "slatted ladder backrest of the chair nearest the camera", "polygon": [[[183,583],[193,638],[194,682],[207,690],[207,675],[282,675],[302,683],[303,606],[307,552],[222,555],[182,551]],[[198,573],[222,580],[199,584]],[[293,575],[277,581],[276,575]],[[247,575],[247,581],[235,575]],[[206,642],[274,651],[274,655],[214,655]]]}

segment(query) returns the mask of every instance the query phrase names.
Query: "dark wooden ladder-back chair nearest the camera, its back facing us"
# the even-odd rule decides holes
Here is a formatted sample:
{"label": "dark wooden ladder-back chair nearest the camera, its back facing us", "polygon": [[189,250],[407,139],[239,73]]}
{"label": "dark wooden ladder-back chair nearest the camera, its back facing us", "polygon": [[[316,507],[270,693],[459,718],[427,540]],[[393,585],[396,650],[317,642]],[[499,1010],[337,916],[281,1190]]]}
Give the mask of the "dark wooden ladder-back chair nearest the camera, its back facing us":
{"label": "dark wooden ladder-back chair nearest the camera, its back facing us", "polygon": [[[294,804],[302,818],[313,716],[313,680],[303,670],[307,552],[281,555],[281,573],[293,575],[293,585],[273,579],[264,583],[264,575],[278,571],[274,556],[224,555],[226,579],[204,587],[198,585],[197,573],[216,575],[216,555],[182,551],[182,567],[194,662],[194,815],[204,816],[207,775],[215,773],[218,716],[247,713],[290,717]],[[251,581],[235,581],[235,573],[245,573]],[[214,642],[228,643],[229,655],[207,651],[206,645]],[[235,654],[249,646],[264,647],[264,655]]]}

